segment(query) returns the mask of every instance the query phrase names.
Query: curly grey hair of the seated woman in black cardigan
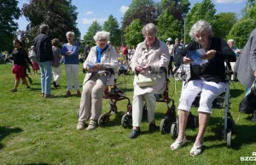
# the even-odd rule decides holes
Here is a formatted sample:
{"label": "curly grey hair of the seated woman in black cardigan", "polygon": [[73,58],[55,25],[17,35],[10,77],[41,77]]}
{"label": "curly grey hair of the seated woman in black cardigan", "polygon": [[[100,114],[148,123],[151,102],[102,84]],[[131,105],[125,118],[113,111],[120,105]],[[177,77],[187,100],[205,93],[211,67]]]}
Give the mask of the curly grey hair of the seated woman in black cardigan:
{"label": "curly grey hair of the seated woman in black cardigan", "polygon": [[192,40],[195,40],[195,31],[207,31],[210,36],[212,35],[212,26],[206,20],[198,20],[189,31],[189,37],[191,37]]}

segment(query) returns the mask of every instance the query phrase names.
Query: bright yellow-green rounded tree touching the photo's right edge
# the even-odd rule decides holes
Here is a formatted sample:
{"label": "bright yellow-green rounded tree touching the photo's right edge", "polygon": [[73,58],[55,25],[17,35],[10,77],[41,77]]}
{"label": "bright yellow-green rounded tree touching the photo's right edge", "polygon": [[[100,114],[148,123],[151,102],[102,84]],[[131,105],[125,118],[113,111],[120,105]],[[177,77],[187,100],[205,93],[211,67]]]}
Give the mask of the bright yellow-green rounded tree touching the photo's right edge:
{"label": "bright yellow-green rounded tree touching the photo's right edge", "polygon": [[236,47],[243,48],[247,43],[247,39],[250,36],[250,33],[256,27],[256,20],[247,19],[237,22],[228,35],[228,39],[234,39]]}

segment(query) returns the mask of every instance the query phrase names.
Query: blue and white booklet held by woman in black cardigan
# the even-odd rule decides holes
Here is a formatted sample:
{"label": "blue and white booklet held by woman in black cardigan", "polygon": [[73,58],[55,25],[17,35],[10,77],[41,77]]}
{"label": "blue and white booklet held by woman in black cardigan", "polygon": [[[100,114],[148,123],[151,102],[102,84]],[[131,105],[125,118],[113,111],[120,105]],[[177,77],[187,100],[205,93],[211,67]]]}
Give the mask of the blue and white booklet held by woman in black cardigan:
{"label": "blue and white booklet held by woman in black cardigan", "polygon": [[188,50],[187,56],[194,60],[194,62],[191,63],[191,65],[202,65],[206,64],[208,60],[201,60],[201,56],[207,54],[204,48],[200,48],[197,50]]}

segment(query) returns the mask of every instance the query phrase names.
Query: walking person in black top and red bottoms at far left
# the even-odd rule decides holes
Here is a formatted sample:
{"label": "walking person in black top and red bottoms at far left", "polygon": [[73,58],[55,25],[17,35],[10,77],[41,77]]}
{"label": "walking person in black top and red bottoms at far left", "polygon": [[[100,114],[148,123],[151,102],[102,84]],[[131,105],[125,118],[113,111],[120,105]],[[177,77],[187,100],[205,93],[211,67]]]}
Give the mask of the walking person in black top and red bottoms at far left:
{"label": "walking person in black top and red bottoms at far left", "polygon": [[13,73],[15,74],[15,88],[11,89],[11,92],[17,92],[17,88],[20,83],[20,78],[23,83],[26,84],[26,88],[30,88],[26,82],[25,70],[26,70],[26,61],[32,65],[31,60],[26,54],[26,50],[20,46],[20,41],[15,39],[14,42],[15,49],[13,50],[11,59],[14,60]]}

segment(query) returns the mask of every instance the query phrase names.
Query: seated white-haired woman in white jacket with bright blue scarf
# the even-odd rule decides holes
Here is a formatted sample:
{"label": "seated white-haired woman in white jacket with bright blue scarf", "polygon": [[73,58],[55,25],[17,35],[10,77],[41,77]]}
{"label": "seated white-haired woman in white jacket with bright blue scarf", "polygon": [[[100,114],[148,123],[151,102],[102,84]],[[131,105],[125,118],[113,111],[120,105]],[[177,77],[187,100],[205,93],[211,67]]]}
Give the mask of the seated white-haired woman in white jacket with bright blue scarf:
{"label": "seated white-haired woman in white jacket with bright blue scarf", "polygon": [[84,78],[83,92],[79,109],[77,129],[84,128],[90,119],[87,130],[97,127],[97,120],[102,114],[102,95],[107,85],[113,85],[114,74],[118,66],[118,54],[113,47],[108,46],[109,32],[98,31],[93,37],[96,45],[90,48],[88,58],[84,61],[87,74]]}

